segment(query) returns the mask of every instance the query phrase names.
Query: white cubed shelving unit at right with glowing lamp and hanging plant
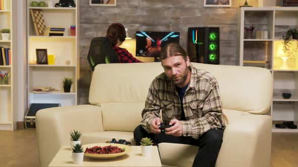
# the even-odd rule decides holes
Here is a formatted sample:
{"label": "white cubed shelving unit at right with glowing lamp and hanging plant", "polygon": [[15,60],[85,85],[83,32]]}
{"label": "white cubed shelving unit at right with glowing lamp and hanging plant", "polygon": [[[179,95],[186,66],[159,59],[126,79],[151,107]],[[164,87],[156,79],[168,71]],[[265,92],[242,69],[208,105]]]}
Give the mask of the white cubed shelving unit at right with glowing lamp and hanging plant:
{"label": "white cubed shelving unit at right with glowing lamp and hanging plant", "polygon": [[[239,65],[244,62],[266,62],[274,78],[274,92],[270,115],[272,132],[298,132],[297,129],[275,128],[276,123],[294,121],[298,123],[298,42],[292,40],[291,50],[294,58],[283,60],[282,36],[289,29],[298,28],[297,7],[241,8],[238,16]],[[255,26],[253,39],[246,39],[243,27]],[[267,38],[257,36],[256,31],[267,31]],[[256,66],[256,65],[251,65]],[[290,99],[284,99],[282,93],[291,93]]]}

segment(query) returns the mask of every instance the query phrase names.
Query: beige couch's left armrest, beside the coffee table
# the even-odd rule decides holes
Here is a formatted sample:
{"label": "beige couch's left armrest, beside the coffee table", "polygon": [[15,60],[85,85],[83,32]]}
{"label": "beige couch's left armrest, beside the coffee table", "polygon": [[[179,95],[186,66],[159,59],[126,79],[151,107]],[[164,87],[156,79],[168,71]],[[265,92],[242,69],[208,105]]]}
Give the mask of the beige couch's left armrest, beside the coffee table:
{"label": "beige couch's left armrest, beside the coffee table", "polygon": [[41,167],[48,166],[62,145],[70,144],[69,132],[73,129],[82,133],[103,131],[101,107],[57,107],[36,113],[36,136]]}

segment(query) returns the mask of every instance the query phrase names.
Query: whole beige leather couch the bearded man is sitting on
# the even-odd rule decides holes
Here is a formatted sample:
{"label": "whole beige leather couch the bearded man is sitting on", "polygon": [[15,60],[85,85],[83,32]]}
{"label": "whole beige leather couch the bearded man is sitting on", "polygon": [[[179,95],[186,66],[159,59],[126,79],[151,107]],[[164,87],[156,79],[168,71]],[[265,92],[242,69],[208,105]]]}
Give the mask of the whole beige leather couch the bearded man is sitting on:
{"label": "whole beige leather couch the bearded man is sitting on", "polygon": [[[218,80],[223,112],[229,119],[216,162],[217,167],[270,166],[273,80],[264,68],[192,63]],[[163,72],[160,62],[100,64],[92,76],[89,103],[40,110],[36,133],[41,167],[51,162],[69,132],[83,132],[82,144],[116,139],[133,140],[139,125],[148,87]],[[191,166],[198,147],[159,145],[163,166]]]}

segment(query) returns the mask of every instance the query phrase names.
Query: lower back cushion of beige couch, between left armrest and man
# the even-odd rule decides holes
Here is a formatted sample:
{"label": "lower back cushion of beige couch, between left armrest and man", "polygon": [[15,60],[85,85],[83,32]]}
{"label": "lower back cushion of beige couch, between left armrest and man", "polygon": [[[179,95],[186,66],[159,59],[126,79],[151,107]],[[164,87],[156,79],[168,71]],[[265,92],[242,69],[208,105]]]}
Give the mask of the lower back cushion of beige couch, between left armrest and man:
{"label": "lower back cushion of beige couch, between left armrest and man", "polygon": [[144,103],[104,103],[100,106],[105,131],[133,132],[142,120]]}

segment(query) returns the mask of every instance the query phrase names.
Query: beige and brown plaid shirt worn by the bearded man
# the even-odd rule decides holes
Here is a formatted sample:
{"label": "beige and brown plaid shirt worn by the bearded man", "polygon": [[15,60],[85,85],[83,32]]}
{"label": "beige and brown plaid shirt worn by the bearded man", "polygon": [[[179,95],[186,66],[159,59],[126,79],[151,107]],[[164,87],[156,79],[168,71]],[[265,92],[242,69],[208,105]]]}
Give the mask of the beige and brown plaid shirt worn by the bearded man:
{"label": "beige and brown plaid shirt worn by the bearded man", "polygon": [[[218,82],[209,72],[191,66],[191,77],[183,97],[183,109],[187,121],[182,123],[183,136],[198,139],[209,129],[224,129],[222,104]],[[151,121],[160,116],[164,123],[171,119],[180,120],[181,102],[175,85],[163,72],[151,83],[141,126],[150,131]]]}

